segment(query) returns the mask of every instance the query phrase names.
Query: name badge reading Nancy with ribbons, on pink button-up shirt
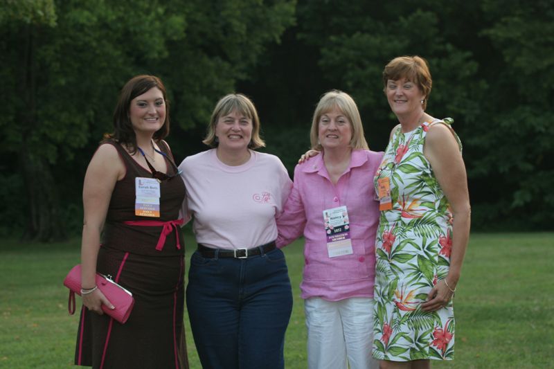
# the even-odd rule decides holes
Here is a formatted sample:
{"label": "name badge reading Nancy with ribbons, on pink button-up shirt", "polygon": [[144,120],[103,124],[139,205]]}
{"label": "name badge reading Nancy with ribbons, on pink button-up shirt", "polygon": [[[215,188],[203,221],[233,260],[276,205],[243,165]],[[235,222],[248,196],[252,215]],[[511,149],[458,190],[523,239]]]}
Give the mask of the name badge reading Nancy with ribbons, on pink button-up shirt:
{"label": "name badge reading Nancy with ribbons, on pink button-up shirt", "polygon": [[350,240],[350,221],[346,206],[323,210],[323,222],[327,234],[329,258],[354,253]]}

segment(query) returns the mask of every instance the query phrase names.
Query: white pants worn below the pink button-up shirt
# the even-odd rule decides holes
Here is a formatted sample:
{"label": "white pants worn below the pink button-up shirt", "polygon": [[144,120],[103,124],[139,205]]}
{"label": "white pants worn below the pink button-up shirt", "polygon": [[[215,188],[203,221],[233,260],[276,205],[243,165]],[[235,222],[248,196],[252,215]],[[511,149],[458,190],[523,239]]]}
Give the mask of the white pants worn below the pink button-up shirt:
{"label": "white pants worn below the pink button-up shirt", "polygon": [[304,301],[309,369],[377,369],[371,357],[373,298]]}

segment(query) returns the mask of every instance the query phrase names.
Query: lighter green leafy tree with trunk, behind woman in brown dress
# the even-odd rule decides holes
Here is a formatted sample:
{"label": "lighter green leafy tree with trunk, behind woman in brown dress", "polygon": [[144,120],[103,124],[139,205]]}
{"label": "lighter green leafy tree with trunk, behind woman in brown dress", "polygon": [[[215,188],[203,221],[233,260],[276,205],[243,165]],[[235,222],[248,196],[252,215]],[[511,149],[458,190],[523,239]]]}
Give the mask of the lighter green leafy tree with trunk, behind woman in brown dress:
{"label": "lighter green leafy tree with trunk, behind woman in brown dress", "polygon": [[[140,73],[159,75],[175,107],[173,127],[182,132],[204,125],[217,99],[233,91],[265,45],[292,24],[295,5],[294,0],[4,2],[9,11],[0,15],[0,77],[7,103],[0,150],[14,161],[1,166],[2,172],[19,173],[27,208],[17,211],[28,219],[26,235],[39,240],[66,235],[62,213],[80,203],[78,192],[69,195],[82,186],[93,150],[111,131],[125,81]],[[178,161],[185,137],[170,140]]]}

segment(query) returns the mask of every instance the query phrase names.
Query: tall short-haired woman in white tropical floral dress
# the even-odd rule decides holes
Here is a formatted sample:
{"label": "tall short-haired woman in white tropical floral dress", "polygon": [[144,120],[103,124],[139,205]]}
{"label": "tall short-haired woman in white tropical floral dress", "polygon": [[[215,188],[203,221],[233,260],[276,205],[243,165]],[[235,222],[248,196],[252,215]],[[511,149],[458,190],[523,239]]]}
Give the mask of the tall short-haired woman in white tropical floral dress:
{"label": "tall short-haired woman in white tropical floral dress", "polygon": [[470,233],[467,177],[452,120],[425,112],[427,62],[397,57],[383,79],[400,125],[375,177],[373,357],[381,368],[430,368],[429,359],[454,357],[452,297]]}

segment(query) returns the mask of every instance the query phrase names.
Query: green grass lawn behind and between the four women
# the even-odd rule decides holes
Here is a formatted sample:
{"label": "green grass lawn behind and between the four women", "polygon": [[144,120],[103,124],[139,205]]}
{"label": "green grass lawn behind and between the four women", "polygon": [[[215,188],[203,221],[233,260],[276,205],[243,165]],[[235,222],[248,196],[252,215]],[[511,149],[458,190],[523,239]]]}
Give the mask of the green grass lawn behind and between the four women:
{"label": "green grass lawn behind and between the four women", "polygon": [[[187,258],[195,243],[186,235]],[[302,242],[285,249],[294,307],[286,368],[306,368]],[[62,280],[79,262],[78,240],[0,246],[0,368],[64,368],[73,362],[78,315]],[[456,359],[435,368],[554,367],[554,233],[474,234],[456,292]],[[78,303],[79,305],[79,303]],[[186,321],[191,368],[200,368]]]}

